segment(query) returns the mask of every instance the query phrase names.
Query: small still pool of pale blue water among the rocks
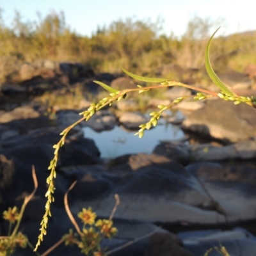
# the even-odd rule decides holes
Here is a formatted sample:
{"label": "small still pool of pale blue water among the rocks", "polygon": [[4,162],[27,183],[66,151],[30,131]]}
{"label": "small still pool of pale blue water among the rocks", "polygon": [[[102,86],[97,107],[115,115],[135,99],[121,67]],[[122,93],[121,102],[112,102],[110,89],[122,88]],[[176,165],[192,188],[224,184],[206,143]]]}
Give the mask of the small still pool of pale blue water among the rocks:
{"label": "small still pool of pale blue water among the rocks", "polygon": [[90,127],[84,127],[84,138],[91,138],[100,150],[100,156],[112,158],[124,154],[150,154],[161,140],[180,140],[184,132],[177,125],[158,124],[153,129],[144,132],[143,138],[134,136],[136,131],[128,131],[122,126],[115,126],[111,131],[95,132]]}

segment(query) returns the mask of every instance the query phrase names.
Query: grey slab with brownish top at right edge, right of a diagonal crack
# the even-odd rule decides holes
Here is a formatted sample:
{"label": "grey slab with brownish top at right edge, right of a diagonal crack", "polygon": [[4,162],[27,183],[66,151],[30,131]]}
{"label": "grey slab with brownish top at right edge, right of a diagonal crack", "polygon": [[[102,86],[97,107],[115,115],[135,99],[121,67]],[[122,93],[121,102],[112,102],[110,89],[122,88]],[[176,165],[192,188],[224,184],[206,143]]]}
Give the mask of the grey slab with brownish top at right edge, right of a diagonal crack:
{"label": "grey slab with brownish top at right edge, right of a diagonal crack", "polygon": [[226,222],[255,219],[255,168],[205,162],[189,164],[186,170],[200,180],[207,195],[216,202],[218,212],[225,216]]}

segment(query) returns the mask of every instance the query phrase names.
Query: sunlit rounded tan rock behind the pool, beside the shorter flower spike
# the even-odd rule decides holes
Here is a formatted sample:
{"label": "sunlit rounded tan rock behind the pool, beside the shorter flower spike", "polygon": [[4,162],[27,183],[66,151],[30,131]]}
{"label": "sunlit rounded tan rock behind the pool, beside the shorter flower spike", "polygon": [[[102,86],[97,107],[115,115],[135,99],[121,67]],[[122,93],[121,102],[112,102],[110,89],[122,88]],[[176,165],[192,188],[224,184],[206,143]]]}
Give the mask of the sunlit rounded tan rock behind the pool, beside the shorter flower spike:
{"label": "sunlit rounded tan rock behind the pool, beside the shorter flower spike", "polygon": [[119,122],[127,129],[138,129],[139,125],[148,122],[141,113],[126,112],[119,117]]}

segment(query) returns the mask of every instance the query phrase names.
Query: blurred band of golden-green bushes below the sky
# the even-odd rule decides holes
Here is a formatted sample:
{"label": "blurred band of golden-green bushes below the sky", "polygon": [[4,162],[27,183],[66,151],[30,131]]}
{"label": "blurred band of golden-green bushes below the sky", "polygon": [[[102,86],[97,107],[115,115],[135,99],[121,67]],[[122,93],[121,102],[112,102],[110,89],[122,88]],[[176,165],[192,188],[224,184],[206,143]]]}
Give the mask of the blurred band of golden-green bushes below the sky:
{"label": "blurred band of golden-green bushes below the sky", "polygon": [[[116,60],[131,72],[156,77],[163,65],[173,63],[186,69],[200,69],[209,38],[216,23],[193,17],[180,38],[163,35],[162,20],[120,19],[108,27],[98,28],[92,36],[72,31],[63,13],[50,12],[45,17],[24,22],[15,12],[12,26],[0,21],[0,80],[19,81],[18,66],[24,61],[79,61],[100,72],[120,72]],[[256,34],[232,35],[212,40],[212,63],[216,70],[228,65],[243,71],[246,63],[256,63]],[[1,62],[5,63],[1,67]],[[168,79],[189,81],[193,75],[175,74]],[[192,79],[193,80],[193,79]]]}

